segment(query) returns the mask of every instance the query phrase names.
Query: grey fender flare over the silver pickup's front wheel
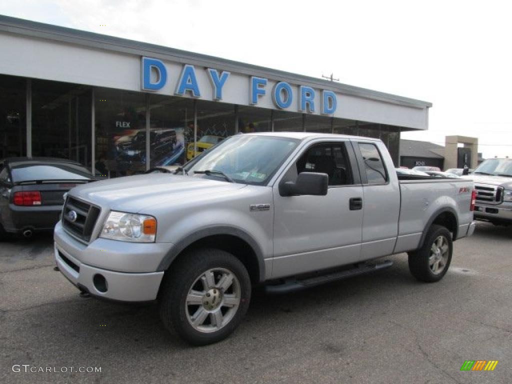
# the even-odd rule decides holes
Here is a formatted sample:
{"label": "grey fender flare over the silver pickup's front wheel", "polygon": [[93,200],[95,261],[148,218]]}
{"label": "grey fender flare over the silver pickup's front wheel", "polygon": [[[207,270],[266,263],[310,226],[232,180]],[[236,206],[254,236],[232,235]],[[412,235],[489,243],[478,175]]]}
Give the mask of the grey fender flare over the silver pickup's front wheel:
{"label": "grey fender flare over the silver pickup's front wheel", "polygon": [[244,230],[229,226],[212,226],[202,228],[179,240],[176,244],[174,244],[174,246],[167,252],[165,257],[162,259],[162,261],[158,265],[157,271],[167,270],[167,268],[169,268],[169,266],[173,263],[176,257],[190,244],[193,244],[196,241],[204,239],[209,236],[215,236],[217,234],[227,234],[230,236],[238,237],[241,240],[245,241],[247,244],[249,244],[249,246],[252,248],[252,251],[256,255],[258,261],[258,269],[260,272],[258,280],[260,282],[263,282],[265,280],[265,261],[260,246]]}

